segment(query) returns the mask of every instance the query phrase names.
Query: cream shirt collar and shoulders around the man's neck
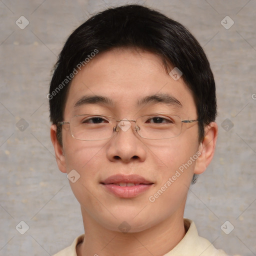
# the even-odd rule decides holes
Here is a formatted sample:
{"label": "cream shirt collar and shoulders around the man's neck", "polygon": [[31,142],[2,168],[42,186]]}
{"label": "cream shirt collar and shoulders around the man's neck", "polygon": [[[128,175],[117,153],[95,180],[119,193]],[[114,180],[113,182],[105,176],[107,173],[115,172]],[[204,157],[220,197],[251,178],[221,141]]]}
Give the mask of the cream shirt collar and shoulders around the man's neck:
{"label": "cream shirt collar and shoulders around the man's neck", "polygon": [[[199,236],[192,220],[185,218],[184,226],[187,232],[182,240],[163,256],[228,256],[223,250],[217,250],[207,239]],[[70,246],[53,256],[77,256],[75,247],[83,238],[84,234],[79,235]]]}

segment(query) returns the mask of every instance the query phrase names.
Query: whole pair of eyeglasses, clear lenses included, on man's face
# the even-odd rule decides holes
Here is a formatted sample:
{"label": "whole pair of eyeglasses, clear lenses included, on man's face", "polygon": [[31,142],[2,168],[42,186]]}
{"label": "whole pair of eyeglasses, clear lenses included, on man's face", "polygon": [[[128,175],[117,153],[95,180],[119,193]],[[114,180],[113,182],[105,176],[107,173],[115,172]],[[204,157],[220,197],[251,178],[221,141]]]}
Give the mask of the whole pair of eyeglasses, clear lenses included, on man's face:
{"label": "whole pair of eyeglasses, clear lenses included, on man's face", "polygon": [[136,120],[116,120],[112,116],[99,114],[79,114],[70,121],[58,122],[59,125],[69,124],[74,138],[80,140],[103,140],[111,138],[115,132],[126,131],[135,123],[134,131],[142,138],[164,139],[173,138],[181,133],[182,123],[198,120],[181,120],[178,115],[156,113],[141,115]]}

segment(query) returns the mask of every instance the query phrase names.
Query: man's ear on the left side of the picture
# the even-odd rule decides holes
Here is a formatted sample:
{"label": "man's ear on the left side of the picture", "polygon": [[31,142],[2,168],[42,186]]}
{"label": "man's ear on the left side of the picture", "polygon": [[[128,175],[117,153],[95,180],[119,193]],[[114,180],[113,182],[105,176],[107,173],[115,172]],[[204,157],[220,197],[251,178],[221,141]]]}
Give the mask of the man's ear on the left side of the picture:
{"label": "man's ear on the left side of the picture", "polygon": [[58,168],[60,171],[66,172],[65,156],[63,154],[63,148],[57,140],[56,129],[57,129],[57,127],[55,124],[52,124],[50,126],[50,139],[51,139],[51,143],[54,147],[55,158],[56,158]]}

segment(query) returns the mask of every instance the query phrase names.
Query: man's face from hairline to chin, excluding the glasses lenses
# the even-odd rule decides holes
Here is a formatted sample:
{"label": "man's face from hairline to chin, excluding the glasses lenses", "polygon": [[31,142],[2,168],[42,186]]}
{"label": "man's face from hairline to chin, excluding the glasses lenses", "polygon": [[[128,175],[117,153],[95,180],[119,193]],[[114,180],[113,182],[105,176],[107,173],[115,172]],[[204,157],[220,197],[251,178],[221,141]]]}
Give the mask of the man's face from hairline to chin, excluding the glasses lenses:
{"label": "man's face from hairline to chin, excluding the glasses lenses", "polygon": [[[95,95],[108,100],[81,100]],[[148,96],[151,100],[143,101]],[[174,80],[152,53],[113,49],[99,52],[75,75],[64,120],[79,114],[135,120],[162,112],[181,119],[197,118],[182,76]],[[120,223],[126,221],[130,231],[142,231],[183,216],[187,190],[198,169],[197,122],[183,123],[178,136],[166,139],[142,138],[134,122],[130,124],[126,131],[118,129],[111,138],[95,141],[75,139],[69,124],[62,126],[59,168],[79,173],[80,178],[70,181],[70,186],[83,216],[110,230],[119,231]]]}

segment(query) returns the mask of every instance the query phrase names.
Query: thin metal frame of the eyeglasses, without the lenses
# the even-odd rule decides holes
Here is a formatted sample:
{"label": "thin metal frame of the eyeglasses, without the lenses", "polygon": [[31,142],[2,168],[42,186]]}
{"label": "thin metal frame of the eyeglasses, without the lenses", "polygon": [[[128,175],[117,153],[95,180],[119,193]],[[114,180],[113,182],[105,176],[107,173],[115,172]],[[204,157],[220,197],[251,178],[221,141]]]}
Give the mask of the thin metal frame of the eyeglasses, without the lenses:
{"label": "thin metal frame of the eyeglasses, without the lenses", "polygon": [[[188,120],[188,119],[183,119],[183,120],[182,120],[179,115],[172,114],[172,113],[152,113],[152,114],[143,114],[143,115],[138,116],[138,117],[136,118],[136,120],[128,120],[128,119],[125,119],[125,120],[124,120],[124,119],[118,119],[118,120],[116,120],[113,116],[104,115],[104,114],[77,114],[77,115],[72,116],[71,119],[72,119],[73,117],[81,116],[81,115],[104,116],[104,117],[113,118],[113,119],[116,121],[116,125],[113,126],[113,133],[112,133],[111,137],[113,137],[114,131],[116,131],[116,132],[119,131],[119,129],[116,130],[116,129],[117,129],[117,126],[118,126],[118,122],[120,122],[120,121],[130,121],[130,122],[134,122],[134,124],[135,124],[135,129],[134,129],[134,131],[136,131],[137,134],[138,134],[140,137],[142,137],[142,136],[138,133],[138,130],[140,130],[140,127],[137,126],[139,129],[137,129],[137,127],[136,127],[136,121],[137,121],[137,119],[140,118],[140,117],[142,117],[142,116],[157,115],[157,114],[168,114],[168,115],[174,115],[174,116],[179,117],[179,118],[180,118],[180,121],[181,121],[180,133],[181,133],[181,131],[182,131],[182,123],[192,123],[192,122],[195,122],[195,121],[199,121],[199,119],[190,119],[190,120]],[[58,121],[57,124],[58,124],[58,125],[70,124],[70,121]],[[71,129],[70,129],[70,132],[71,132],[71,135],[72,135],[73,138],[78,139],[78,140],[83,140],[83,141],[97,141],[97,140],[104,140],[104,139],[111,138],[111,137],[108,137],[108,138],[93,139],[93,140],[91,140],[91,139],[80,139],[80,138],[74,137],[74,135],[72,134]],[[178,135],[180,135],[180,133],[179,133]],[[174,136],[174,137],[177,137],[178,135],[176,135],[176,136]],[[174,138],[174,137],[169,137],[169,138]],[[145,138],[145,137],[142,137],[142,138]],[[145,139],[167,139],[167,138],[145,138]]]}

